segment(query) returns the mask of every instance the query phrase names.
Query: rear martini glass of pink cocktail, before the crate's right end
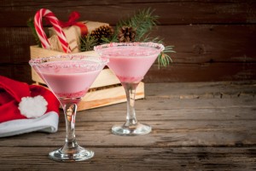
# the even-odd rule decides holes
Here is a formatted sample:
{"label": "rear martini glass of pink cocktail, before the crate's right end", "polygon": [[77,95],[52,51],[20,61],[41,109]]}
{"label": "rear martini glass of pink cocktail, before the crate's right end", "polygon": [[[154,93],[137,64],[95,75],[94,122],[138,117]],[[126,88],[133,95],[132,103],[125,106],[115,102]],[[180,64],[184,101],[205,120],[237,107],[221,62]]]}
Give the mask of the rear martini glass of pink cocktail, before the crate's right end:
{"label": "rear martini glass of pink cocktail, before the crate's right end", "polygon": [[124,136],[150,133],[151,127],[148,124],[137,121],[134,107],[136,88],[154,60],[164,50],[164,46],[160,43],[108,43],[96,46],[94,49],[100,56],[108,58],[108,67],[125,88],[126,121],[122,125],[114,125],[112,133]]}

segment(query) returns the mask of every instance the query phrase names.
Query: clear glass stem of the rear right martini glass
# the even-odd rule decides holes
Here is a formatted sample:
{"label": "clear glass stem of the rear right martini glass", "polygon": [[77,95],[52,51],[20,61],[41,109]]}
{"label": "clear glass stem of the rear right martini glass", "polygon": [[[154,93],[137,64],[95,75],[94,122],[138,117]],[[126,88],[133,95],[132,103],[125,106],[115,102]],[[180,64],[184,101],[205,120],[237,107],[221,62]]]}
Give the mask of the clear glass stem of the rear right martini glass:
{"label": "clear glass stem of the rear right martini glass", "polygon": [[122,83],[125,88],[125,94],[127,98],[127,116],[125,127],[132,127],[137,124],[136,112],[135,112],[135,95],[138,83]]}

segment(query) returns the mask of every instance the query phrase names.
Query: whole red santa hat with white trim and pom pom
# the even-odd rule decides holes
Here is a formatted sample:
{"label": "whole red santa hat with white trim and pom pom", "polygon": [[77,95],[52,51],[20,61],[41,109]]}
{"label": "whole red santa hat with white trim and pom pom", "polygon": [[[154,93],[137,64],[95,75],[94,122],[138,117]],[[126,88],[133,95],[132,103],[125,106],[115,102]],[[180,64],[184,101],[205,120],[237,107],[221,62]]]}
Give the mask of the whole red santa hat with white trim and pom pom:
{"label": "whole red santa hat with white trim and pom pom", "polygon": [[56,132],[59,106],[48,88],[0,76],[0,137],[32,131]]}

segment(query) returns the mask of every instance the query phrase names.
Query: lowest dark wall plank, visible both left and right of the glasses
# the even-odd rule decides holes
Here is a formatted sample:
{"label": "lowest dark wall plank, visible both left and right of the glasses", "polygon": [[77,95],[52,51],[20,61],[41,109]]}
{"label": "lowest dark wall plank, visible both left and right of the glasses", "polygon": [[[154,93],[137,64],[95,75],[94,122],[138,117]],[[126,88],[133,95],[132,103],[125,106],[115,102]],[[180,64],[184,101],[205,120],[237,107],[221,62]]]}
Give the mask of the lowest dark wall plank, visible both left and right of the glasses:
{"label": "lowest dark wall plank, visible both left and right of the glasses", "polygon": [[[212,63],[212,64],[172,64],[158,68],[154,65],[143,79],[145,83],[240,81],[256,79],[255,63]],[[21,82],[32,83],[31,66],[0,65],[0,74]]]}

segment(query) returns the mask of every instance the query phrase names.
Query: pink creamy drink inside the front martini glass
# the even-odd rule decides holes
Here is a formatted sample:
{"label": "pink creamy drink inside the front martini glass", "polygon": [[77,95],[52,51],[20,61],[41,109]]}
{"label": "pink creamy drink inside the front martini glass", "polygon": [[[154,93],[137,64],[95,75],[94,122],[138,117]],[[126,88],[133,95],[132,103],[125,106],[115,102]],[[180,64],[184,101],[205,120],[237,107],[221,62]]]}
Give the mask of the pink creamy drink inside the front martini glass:
{"label": "pink creamy drink inside the front martini glass", "polygon": [[[83,65],[95,65],[87,60],[51,61],[42,64],[40,75],[59,99],[80,98],[90,88],[101,70],[90,70]],[[46,66],[46,67],[45,67]],[[52,67],[50,67],[52,66]],[[55,67],[70,66],[70,67]],[[37,70],[37,68],[35,68]]]}

